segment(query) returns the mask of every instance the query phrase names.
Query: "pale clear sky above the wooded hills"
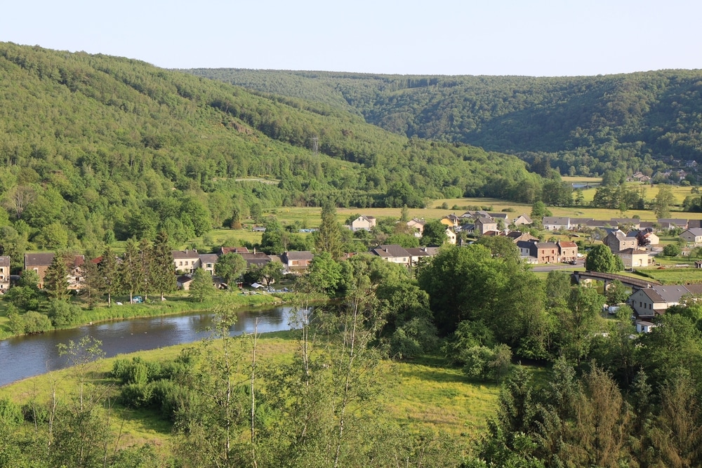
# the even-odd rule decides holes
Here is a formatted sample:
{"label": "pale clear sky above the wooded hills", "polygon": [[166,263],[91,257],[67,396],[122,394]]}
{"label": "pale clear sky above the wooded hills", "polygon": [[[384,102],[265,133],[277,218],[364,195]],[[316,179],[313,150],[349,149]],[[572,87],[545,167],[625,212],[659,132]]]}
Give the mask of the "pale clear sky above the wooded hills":
{"label": "pale clear sky above the wooded hills", "polygon": [[694,0],[23,0],[0,41],[164,68],[583,76],[702,68]]}

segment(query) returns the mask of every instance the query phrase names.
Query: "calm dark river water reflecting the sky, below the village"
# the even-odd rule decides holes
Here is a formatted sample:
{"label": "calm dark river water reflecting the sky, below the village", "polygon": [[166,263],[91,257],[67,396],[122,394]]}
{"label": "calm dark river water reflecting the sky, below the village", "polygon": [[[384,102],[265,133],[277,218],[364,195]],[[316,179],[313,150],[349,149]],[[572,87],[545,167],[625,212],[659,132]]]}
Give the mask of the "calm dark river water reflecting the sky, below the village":
{"label": "calm dark river water reflecting the sky, below the village", "polygon": [[[231,334],[289,330],[290,314],[291,307],[242,309]],[[58,355],[59,343],[78,342],[88,335],[102,341],[102,351],[112,357],[201,340],[211,335],[213,317],[199,313],[130,319],[0,340],[0,387],[67,367],[65,358]]]}

